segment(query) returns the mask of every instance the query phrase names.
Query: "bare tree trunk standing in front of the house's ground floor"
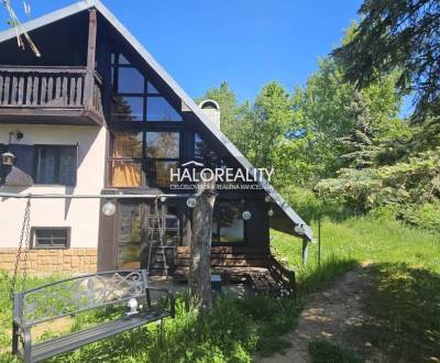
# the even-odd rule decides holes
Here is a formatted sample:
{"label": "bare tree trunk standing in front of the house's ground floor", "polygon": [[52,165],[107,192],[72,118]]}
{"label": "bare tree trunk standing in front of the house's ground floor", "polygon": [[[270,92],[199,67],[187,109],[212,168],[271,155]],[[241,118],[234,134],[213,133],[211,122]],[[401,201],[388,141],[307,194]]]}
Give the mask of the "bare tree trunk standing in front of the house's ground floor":
{"label": "bare tree trunk standing in front of the house's ground floor", "polygon": [[216,201],[215,187],[213,179],[198,183],[199,196],[193,210],[188,287],[193,306],[201,311],[209,311],[212,305],[211,237],[212,211]]}

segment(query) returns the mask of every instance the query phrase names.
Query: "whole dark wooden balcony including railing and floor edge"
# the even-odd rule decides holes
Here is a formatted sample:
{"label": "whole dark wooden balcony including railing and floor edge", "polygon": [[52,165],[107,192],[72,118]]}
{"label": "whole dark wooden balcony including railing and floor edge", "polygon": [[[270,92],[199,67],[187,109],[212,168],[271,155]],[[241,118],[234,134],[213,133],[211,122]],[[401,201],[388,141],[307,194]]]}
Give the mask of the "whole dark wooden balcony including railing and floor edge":
{"label": "whole dark wooden balcony including railing and floor edge", "polygon": [[0,123],[102,124],[101,88],[86,67],[0,66]]}

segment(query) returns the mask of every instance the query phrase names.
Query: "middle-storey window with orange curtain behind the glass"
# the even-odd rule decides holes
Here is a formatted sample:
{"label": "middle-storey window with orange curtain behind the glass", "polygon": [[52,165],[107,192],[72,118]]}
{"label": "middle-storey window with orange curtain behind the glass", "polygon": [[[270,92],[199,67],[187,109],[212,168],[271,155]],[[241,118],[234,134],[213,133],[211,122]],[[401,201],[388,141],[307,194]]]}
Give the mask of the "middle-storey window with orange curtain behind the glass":
{"label": "middle-storey window with orange curtain behind the glass", "polygon": [[168,187],[170,168],[180,157],[178,132],[116,132],[112,135],[110,186]]}

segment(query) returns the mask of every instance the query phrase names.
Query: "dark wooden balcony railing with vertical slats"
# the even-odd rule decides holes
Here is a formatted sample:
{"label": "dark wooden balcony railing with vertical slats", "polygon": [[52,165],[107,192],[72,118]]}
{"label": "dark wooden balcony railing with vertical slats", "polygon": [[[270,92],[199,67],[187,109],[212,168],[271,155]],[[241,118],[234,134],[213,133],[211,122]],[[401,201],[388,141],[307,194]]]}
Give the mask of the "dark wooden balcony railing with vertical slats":
{"label": "dark wooden balcony railing with vertical slats", "polygon": [[0,67],[0,108],[85,110],[102,116],[101,78],[86,67]]}

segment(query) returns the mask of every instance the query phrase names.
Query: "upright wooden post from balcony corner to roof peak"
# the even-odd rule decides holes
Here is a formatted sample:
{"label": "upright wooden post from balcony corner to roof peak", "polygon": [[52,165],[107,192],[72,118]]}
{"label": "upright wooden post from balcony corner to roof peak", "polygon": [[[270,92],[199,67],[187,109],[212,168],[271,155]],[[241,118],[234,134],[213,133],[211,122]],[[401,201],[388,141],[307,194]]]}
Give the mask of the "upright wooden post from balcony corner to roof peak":
{"label": "upright wooden post from balcony corner to roof peak", "polygon": [[95,59],[97,41],[97,11],[91,9],[89,12],[89,40],[87,44],[87,72],[84,85],[84,103],[86,109],[94,107],[94,86],[95,86]]}

